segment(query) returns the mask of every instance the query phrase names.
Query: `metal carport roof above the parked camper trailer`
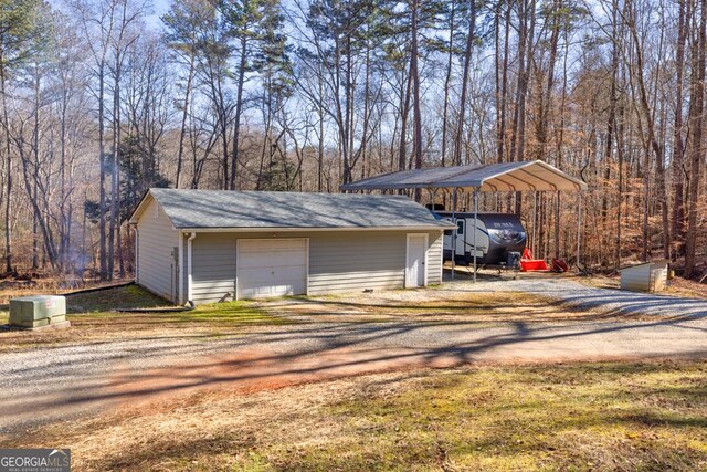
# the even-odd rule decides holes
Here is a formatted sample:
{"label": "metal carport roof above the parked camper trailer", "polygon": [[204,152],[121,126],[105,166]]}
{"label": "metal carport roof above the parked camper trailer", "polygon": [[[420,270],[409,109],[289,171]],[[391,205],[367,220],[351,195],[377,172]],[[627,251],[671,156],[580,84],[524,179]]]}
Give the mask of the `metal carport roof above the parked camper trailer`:
{"label": "metal carport roof above the parked camper trailer", "polygon": [[401,170],[341,186],[341,190],[476,188],[481,191],[585,190],[587,183],[541,160]]}

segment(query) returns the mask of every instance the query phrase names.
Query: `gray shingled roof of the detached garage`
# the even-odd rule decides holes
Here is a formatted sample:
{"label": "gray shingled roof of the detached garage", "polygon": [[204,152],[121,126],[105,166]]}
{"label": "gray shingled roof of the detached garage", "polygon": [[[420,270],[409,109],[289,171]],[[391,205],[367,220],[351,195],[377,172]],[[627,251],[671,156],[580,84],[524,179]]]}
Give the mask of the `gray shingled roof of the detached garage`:
{"label": "gray shingled roof of the detached garage", "polygon": [[150,189],[175,228],[446,228],[402,196]]}

